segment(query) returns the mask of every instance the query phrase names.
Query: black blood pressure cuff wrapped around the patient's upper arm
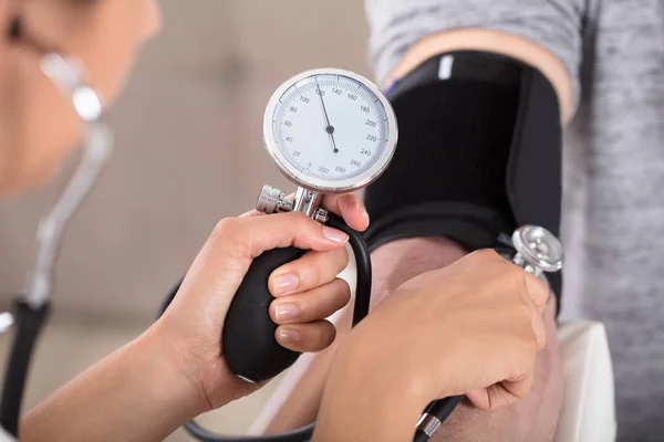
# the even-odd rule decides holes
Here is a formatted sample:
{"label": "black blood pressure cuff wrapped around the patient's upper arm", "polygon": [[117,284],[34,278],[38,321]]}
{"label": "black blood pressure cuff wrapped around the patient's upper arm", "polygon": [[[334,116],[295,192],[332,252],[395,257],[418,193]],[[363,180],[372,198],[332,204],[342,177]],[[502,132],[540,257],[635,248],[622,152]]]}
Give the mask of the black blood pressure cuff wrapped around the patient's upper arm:
{"label": "black blood pressure cuff wrapped around the patient's upper arm", "polygon": [[[447,236],[468,250],[509,248],[526,224],[560,235],[560,108],[539,71],[492,53],[453,52],[386,94],[400,140],[366,190],[372,249],[416,236]],[[560,308],[561,276],[548,276]]]}

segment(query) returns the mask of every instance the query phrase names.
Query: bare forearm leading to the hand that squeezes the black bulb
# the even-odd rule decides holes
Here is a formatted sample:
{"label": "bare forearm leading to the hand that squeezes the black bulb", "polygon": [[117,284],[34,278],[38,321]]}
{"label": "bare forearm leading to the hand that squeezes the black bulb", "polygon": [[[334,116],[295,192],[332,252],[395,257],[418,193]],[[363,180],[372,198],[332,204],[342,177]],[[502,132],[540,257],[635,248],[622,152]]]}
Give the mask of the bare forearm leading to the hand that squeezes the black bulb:
{"label": "bare forearm leading to the hand that squeezes the black bulb", "polygon": [[22,420],[21,441],[160,441],[203,412],[154,329],[90,368]]}

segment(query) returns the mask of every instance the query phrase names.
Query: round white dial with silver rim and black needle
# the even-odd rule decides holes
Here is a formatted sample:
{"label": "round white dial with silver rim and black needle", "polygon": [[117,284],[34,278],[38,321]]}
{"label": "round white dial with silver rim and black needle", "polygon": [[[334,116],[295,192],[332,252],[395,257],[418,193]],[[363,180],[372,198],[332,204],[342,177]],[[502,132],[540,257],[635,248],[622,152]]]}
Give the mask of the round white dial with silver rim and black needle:
{"label": "round white dial with silver rim and black needle", "polygon": [[387,167],[396,120],[367,80],[345,71],[312,71],[280,87],[266,114],[268,150],[298,185],[350,191]]}

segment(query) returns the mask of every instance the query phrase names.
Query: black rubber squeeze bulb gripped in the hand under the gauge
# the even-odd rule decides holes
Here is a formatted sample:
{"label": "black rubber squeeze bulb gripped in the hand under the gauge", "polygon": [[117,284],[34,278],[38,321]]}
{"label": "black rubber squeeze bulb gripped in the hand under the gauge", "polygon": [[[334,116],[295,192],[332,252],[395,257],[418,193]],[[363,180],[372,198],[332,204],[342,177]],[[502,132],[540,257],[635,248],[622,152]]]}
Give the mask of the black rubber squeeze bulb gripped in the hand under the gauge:
{"label": "black rubber squeeze bulb gripped in the hand under the gauge", "polygon": [[272,379],[300,357],[283,348],[274,337],[277,324],[270,318],[274,297],[268,278],[274,270],[295,261],[304,250],[276,249],[253,260],[226,316],[221,345],[230,370],[243,379],[260,382]]}

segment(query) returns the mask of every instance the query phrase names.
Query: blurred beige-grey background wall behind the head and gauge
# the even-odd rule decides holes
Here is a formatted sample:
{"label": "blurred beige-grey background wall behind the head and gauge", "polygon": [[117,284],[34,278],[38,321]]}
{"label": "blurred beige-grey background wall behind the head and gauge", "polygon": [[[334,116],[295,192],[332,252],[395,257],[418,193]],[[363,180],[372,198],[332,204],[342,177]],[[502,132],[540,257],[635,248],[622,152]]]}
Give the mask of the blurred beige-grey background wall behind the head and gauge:
{"label": "blurred beige-grey background wall behind the head and gauge", "polygon": [[[141,333],[219,219],[252,209],[263,183],[292,188],[261,141],[264,106],[279,84],[324,66],[371,77],[360,0],[160,3],[163,33],[111,114],[113,159],[66,234],[28,407]],[[63,178],[0,206],[3,306],[22,287],[39,217]],[[8,338],[0,337],[2,356]],[[260,400],[209,421],[242,431]]]}

